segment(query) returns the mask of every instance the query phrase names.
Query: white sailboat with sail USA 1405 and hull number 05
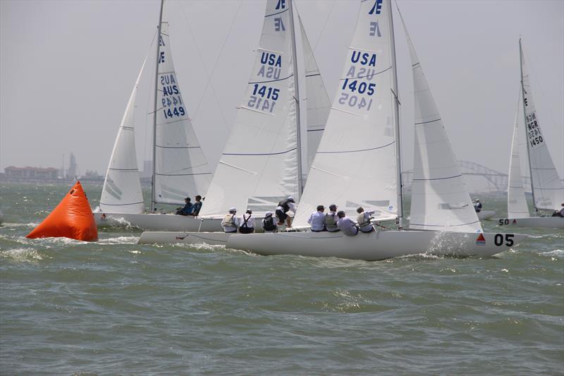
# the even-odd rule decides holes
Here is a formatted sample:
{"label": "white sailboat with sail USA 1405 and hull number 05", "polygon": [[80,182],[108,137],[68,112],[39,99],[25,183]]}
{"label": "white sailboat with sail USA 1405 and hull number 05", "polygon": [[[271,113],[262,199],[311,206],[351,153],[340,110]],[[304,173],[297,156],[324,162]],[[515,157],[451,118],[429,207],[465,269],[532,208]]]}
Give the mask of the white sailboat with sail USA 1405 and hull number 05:
{"label": "white sailboat with sail USA 1405 and hull number 05", "polygon": [[356,236],[312,231],[237,234],[228,238],[228,248],[261,255],[360,260],[425,252],[490,256],[525,237],[483,232],[407,30],[405,34],[415,93],[415,166],[409,228],[403,229],[391,1],[361,1],[341,84],[294,226],[307,227],[306,219],[312,208],[321,202],[331,202],[347,214],[362,204],[373,208],[377,220],[397,217],[398,230]]}

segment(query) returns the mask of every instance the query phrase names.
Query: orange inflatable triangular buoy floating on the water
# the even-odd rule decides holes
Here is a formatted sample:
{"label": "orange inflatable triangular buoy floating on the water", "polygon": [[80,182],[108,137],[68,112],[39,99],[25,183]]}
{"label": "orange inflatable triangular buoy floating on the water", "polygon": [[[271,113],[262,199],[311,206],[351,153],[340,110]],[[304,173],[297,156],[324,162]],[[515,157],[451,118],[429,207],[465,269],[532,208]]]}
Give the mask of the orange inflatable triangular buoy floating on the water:
{"label": "orange inflatable triangular buoy floating on the water", "polygon": [[98,229],[84,190],[77,181],[59,205],[35,227],[27,238],[71,238],[97,241]]}

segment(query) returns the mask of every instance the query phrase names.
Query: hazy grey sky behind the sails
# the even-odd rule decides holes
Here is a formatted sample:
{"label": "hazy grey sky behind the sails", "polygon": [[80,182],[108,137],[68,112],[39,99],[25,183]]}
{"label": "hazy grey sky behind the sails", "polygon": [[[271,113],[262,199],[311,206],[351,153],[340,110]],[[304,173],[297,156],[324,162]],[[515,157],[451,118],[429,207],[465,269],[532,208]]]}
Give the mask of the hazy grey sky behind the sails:
{"label": "hazy grey sky behind the sails", "polygon": [[[359,1],[295,0],[332,99]],[[507,173],[523,38],[537,115],[564,177],[564,1],[398,2],[458,159]],[[172,54],[184,102],[215,166],[259,42],[264,1],[171,1]],[[149,51],[159,1],[0,1],[0,169],[104,174],[130,91]],[[395,19],[404,166],[412,166],[410,61]],[[149,65],[149,64],[148,64]],[[137,157],[150,159],[145,116],[154,68],[137,99]],[[252,142],[252,140],[249,140]],[[140,165],[142,169],[142,164]]]}

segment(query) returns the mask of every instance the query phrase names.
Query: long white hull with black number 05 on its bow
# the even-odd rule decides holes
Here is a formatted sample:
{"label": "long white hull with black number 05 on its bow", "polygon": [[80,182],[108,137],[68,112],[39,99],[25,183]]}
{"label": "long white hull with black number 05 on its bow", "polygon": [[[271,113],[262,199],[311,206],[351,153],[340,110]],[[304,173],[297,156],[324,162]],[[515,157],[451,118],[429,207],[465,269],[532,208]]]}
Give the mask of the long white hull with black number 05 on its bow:
{"label": "long white hull with black number 05 on its bow", "polygon": [[479,234],[435,231],[375,231],[356,236],[345,236],[341,232],[233,234],[228,238],[226,246],[259,255],[304,255],[375,261],[422,253],[493,256],[526,237],[519,234],[482,235],[484,241],[477,241]]}

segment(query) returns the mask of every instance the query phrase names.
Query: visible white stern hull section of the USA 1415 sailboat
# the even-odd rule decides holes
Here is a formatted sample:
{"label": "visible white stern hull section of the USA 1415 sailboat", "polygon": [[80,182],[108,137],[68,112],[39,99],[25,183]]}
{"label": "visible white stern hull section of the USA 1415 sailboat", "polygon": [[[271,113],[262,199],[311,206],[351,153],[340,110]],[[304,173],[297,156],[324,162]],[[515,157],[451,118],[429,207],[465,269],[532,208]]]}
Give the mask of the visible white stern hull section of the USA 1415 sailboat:
{"label": "visible white stern hull section of the USA 1415 sailboat", "polygon": [[226,245],[231,235],[224,232],[144,231],[137,244]]}

